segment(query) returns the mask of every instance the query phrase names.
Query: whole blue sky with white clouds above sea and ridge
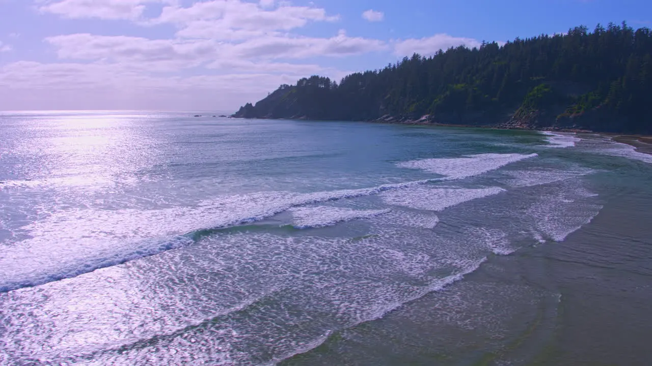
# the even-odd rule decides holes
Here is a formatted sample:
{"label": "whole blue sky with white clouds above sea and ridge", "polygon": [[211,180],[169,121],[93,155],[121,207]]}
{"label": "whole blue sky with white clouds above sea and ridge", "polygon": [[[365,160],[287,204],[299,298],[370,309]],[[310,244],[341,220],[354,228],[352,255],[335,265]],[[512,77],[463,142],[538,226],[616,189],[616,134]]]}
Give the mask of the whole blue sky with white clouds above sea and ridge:
{"label": "whole blue sky with white clouds above sea and ridge", "polygon": [[649,0],[0,0],[0,110],[235,111],[301,77],[627,21]]}

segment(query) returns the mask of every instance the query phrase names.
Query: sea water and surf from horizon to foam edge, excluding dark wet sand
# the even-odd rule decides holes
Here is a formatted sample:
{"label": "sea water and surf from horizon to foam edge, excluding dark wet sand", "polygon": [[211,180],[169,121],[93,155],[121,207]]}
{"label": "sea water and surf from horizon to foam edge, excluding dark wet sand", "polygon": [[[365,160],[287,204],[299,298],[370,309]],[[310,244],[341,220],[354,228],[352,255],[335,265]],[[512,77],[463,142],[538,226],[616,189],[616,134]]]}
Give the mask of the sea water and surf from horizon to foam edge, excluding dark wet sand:
{"label": "sea water and surf from horizon to foam edge, excluding dark wet sand", "polygon": [[61,112],[0,136],[9,365],[273,364],[652,189],[598,135]]}

